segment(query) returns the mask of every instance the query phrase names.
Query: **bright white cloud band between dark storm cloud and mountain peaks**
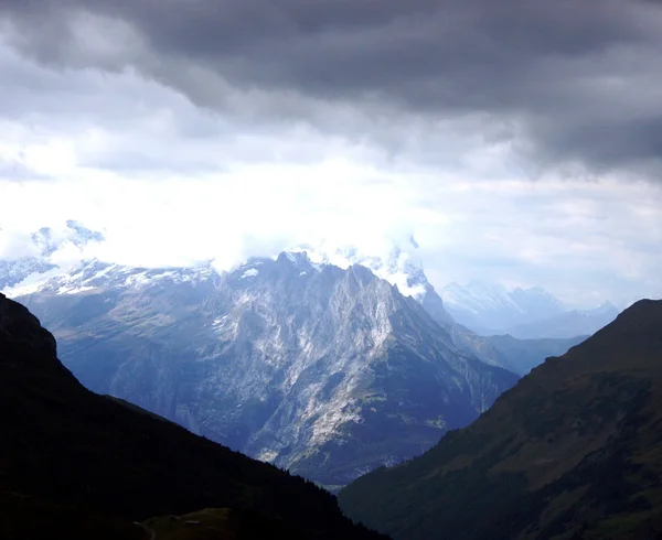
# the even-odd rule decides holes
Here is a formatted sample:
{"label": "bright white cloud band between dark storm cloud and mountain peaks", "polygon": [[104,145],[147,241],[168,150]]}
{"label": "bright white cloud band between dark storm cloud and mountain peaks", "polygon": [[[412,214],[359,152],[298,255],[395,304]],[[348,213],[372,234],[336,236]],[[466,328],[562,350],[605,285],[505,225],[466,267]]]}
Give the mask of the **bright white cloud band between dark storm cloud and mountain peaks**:
{"label": "bright white cloud band between dark storm cloud and mountain peaks", "polygon": [[[0,160],[22,168],[0,168],[0,257],[29,251],[26,235],[66,219],[104,229],[107,241],[86,256],[145,266],[229,268],[321,239],[380,255],[414,234],[437,287],[543,285],[587,304],[662,295],[659,187],[532,182],[498,137],[476,134],[480,116],[429,133],[407,120],[388,154],[360,132],[212,115],[130,72],[58,73],[0,47],[0,73],[14,75],[0,104]],[[359,129],[354,112],[323,114]],[[378,120],[385,138],[398,120]],[[438,141],[434,159],[426,134]]]}

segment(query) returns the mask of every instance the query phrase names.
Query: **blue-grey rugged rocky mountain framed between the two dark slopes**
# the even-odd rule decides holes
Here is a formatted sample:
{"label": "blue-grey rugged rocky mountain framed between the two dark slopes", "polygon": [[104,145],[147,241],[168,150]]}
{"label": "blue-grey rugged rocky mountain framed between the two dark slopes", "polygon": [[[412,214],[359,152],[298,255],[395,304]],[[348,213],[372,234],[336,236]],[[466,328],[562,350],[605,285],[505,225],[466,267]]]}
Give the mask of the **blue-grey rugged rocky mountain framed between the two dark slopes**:
{"label": "blue-grey rugged rocky mountain framed between the two dark slopes", "polygon": [[367,268],[302,252],[225,274],[93,262],[22,301],[93,390],[325,485],[419,454],[516,380]]}

